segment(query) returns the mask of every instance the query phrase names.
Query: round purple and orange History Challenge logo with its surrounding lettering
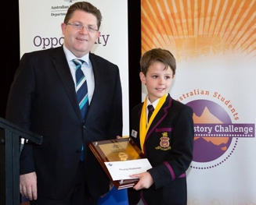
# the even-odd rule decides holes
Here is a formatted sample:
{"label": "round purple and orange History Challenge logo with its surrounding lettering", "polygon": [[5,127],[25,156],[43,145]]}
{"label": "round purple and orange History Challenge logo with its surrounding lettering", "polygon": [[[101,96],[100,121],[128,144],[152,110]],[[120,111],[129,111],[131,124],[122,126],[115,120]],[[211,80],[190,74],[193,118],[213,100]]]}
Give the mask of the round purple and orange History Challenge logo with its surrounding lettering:
{"label": "round purple and orange History Challenge logo with its surrounding lettering", "polygon": [[232,157],[241,138],[255,137],[254,123],[240,122],[235,102],[217,91],[191,90],[177,100],[189,101],[186,104],[193,108],[194,147],[190,168],[215,168]]}

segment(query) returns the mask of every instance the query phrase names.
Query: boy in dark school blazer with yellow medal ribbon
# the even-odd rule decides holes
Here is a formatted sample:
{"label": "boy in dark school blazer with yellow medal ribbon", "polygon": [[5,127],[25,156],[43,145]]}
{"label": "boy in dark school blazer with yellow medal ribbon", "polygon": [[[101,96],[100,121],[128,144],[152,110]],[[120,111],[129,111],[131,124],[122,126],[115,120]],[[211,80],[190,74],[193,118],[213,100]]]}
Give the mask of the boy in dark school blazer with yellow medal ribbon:
{"label": "boy in dark school blazer with yellow medal ribbon", "polygon": [[[193,159],[193,110],[168,94],[176,70],[170,51],[146,51],[140,65],[139,76],[148,94],[132,109],[131,136],[153,168],[132,175],[139,182],[128,189],[129,204],[186,205],[186,170]],[[148,115],[150,111],[153,113]]]}

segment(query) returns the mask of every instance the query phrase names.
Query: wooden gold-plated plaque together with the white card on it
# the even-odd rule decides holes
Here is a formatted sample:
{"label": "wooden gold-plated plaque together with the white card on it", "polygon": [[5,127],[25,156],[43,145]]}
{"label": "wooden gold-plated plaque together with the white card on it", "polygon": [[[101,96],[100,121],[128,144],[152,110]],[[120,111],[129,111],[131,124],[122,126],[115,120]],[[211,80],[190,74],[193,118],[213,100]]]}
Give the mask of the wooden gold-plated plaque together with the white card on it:
{"label": "wooden gold-plated plaque together with the white card on it", "polygon": [[92,142],[88,147],[117,189],[135,186],[139,178],[129,175],[152,168],[132,138]]}

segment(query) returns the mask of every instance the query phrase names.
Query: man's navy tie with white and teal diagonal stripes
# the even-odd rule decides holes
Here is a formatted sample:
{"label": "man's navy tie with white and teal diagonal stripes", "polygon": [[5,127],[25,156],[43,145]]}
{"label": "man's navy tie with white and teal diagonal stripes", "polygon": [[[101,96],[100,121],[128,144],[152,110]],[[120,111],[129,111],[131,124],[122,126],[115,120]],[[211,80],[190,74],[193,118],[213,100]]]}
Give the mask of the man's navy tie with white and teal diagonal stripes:
{"label": "man's navy tie with white and teal diagonal stripes", "polygon": [[[78,97],[78,104],[81,111],[81,117],[85,119],[86,112],[88,110],[88,88],[85,79],[84,72],[81,70],[81,65],[84,63],[83,60],[74,59],[74,64],[76,65],[76,92]],[[84,161],[84,147],[81,147],[81,161]]]}

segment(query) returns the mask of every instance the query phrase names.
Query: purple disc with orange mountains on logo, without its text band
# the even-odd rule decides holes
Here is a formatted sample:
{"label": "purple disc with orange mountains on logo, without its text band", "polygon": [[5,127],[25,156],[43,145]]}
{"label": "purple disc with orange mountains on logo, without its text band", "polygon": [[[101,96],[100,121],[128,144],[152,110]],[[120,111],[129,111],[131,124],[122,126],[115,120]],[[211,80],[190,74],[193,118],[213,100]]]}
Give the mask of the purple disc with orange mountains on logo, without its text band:
{"label": "purple disc with orange mountains on logo, without its text band", "polygon": [[[212,101],[198,100],[189,102],[188,105],[193,108],[193,122],[195,126],[197,124],[223,124],[231,122],[226,111]],[[214,161],[225,153],[231,141],[232,137],[199,136],[195,132],[193,161]]]}

